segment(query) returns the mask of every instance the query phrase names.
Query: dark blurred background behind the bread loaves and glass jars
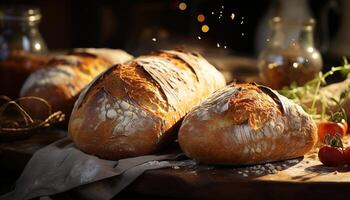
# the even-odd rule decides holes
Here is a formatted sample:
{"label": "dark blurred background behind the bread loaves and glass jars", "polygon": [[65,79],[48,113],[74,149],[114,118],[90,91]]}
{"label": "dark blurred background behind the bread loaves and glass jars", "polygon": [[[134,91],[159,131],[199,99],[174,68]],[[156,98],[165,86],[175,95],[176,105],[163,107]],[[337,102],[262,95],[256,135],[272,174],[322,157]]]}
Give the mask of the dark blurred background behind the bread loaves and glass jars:
{"label": "dark blurred background behind the bread loaves and glass jars", "polygon": [[239,68],[236,77],[250,80],[245,76],[256,77],[256,59],[271,36],[268,22],[281,16],[315,19],[314,48],[322,55],[323,71],[342,64],[342,56],[350,57],[348,0],[2,0],[0,4],[39,7],[39,30],[50,51],[106,47],[137,56],[185,47],[204,54],[222,71]]}

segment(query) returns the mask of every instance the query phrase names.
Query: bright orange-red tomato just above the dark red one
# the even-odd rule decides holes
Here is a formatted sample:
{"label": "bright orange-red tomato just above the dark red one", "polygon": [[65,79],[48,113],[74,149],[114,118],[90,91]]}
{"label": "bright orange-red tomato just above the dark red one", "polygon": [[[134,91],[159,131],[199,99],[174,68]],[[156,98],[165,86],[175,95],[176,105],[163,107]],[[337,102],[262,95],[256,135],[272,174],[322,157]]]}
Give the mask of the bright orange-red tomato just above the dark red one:
{"label": "bright orange-red tomato just above the dark red one", "polygon": [[344,137],[348,129],[348,124],[345,120],[343,122],[322,121],[318,123],[317,129],[318,138],[323,142],[327,134],[329,134],[331,138],[336,133],[338,133],[340,137]]}

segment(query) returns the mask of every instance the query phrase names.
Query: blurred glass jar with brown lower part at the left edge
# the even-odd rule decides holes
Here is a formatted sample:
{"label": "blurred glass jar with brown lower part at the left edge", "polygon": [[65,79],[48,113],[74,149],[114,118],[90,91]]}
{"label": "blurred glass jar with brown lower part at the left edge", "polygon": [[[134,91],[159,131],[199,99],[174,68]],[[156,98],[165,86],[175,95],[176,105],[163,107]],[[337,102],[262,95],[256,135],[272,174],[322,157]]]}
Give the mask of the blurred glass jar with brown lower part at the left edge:
{"label": "blurred glass jar with brown lower part at the left edge", "polygon": [[47,62],[40,20],[37,8],[0,8],[0,95],[18,97],[29,74]]}

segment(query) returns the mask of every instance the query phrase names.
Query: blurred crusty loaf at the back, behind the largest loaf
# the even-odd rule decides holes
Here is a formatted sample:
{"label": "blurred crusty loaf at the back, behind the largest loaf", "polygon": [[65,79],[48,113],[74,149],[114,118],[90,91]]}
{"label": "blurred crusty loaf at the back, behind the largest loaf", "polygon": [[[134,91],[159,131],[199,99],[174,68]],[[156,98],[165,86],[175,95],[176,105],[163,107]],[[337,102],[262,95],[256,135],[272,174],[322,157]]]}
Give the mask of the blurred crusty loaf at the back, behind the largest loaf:
{"label": "blurred crusty loaf at the back, behind the largest loaf", "polygon": [[[53,111],[67,117],[81,90],[108,67],[132,59],[118,49],[75,49],[67,55],[52,58],[47,67],[31,74],[22,86],[20,96],[36,96],[48,101]],[[34,116],[46,116],[47,107],[37,101],[23,101],[22,106]]]}

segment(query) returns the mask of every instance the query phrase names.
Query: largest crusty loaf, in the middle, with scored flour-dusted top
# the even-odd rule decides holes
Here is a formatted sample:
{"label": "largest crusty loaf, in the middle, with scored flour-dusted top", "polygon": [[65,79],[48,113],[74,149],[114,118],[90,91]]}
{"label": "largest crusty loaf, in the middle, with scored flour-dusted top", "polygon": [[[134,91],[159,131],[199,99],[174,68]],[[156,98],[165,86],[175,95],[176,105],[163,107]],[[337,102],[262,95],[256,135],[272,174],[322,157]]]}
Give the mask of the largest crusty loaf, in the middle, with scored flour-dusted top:
{"label": "largest crusty loaf, in the middle, with scored flour-dusted top", "polygon": [[117,160],[155,152],[222,74],[200,55],[161,51],[116,65],[77,100],[68,132],[81,150]]}

